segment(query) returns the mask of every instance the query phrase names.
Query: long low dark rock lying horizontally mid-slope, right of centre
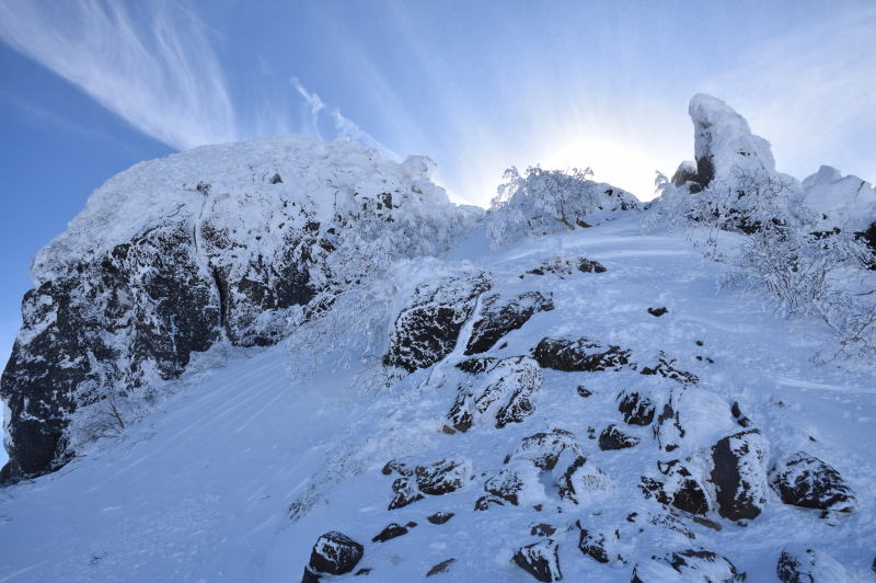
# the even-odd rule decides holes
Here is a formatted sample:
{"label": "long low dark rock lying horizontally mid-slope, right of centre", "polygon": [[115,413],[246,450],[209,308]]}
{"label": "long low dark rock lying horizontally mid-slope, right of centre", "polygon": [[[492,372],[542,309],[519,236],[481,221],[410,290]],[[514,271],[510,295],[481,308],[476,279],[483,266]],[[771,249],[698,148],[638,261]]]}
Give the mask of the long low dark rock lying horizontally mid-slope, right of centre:
{"label": "long low dark rock lying horizontally mid-slope, right of centre", "polygon": [[544,368],[567,373],[618,370],[630,363],[630,351],[620,346],[602,346],[586,338],[545,338],[535,346],[533,356]]}

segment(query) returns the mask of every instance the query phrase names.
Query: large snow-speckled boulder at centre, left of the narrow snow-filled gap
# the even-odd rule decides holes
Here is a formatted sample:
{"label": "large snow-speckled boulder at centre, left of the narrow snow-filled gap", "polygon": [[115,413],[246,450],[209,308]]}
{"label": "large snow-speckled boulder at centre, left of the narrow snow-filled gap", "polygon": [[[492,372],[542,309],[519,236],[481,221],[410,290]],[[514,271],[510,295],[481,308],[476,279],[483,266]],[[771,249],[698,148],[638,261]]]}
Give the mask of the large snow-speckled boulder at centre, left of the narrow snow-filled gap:
{"label": "large snow-speckled boulder at centre, left of the narrow snow-filled gap", "polygon": [[426,368],[453,351],[477,296],[492,286],[483,273],[420,285],[395,320],[383,365],[408,373]]}

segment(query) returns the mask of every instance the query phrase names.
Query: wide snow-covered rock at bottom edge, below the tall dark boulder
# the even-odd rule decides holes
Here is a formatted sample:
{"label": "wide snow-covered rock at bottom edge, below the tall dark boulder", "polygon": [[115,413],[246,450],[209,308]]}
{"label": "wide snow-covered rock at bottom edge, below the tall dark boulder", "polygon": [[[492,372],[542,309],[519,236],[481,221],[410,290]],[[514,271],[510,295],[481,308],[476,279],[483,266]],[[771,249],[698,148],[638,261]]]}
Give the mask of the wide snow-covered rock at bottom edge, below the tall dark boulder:
{"label": "wide snow-covered rock at bottom edge, below the tall dark boulder", "polygon": [[746,579],[746,574],[738,572],[725,557],[710,550],[690,549],[637,563],[631,583],[661,583],[666,581],[667,567],[679,574],[679,581],[734,583]]}

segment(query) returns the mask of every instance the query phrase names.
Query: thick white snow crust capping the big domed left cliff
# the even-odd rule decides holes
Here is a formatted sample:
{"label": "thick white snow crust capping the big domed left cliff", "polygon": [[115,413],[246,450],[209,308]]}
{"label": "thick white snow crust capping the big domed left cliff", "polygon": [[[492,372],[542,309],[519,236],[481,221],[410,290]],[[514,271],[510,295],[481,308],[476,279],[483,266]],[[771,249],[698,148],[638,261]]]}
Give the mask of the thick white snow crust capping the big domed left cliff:
{"label": "thick white snow crust capping the big domed left cliff", "polygon": [[[168,217],[196,220],[207,190],[217,227],[233,230],[243,224],[253,235],[269,232],[257,226],[268,227],[272,210],[292,203],[320,222],[360,213],[361,198],[377,203],[383,193],[397,195],[393,208],[407,199],[456,208],[431,182],[434,170],[435,162],[425,157],[383,161],[377,150],[355,141],[304,136],[203,146],[140,162],[94,191],[67,230],[36,255],[32,278],[49,278],[59,266],[100,255]],[[473,207],[466,212],[476,214]],[[247,242],[264,249],[281,240]]]}

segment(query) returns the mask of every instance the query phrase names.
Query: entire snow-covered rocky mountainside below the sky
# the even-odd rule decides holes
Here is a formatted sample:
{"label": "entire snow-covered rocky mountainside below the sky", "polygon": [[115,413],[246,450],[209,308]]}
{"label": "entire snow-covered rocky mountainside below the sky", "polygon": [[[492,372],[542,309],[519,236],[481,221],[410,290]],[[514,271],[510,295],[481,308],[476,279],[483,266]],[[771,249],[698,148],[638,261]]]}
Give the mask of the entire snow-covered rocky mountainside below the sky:
{"label": "entire snow-covered rocky mountainside below the sky", "polygon": [[428,159],[298,137],[110,180],[3,373],[0,580],[872,578],[876,371],[812,355],[873,312],[761,310],[685,235],[788,247],[784,278],[808,244],[855,308],[873,188],[690,112],[648,205],[538,170],[484,214]]}

